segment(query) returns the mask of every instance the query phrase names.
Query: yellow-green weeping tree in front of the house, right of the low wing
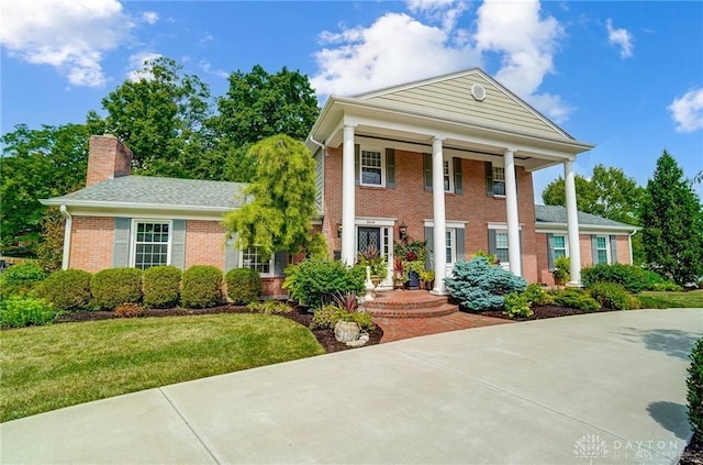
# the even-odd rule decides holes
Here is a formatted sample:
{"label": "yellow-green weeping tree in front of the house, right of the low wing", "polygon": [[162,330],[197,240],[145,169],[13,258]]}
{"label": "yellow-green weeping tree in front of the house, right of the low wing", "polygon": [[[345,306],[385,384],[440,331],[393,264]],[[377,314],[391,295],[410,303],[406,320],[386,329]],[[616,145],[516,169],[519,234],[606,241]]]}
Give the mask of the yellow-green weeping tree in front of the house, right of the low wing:
{"label": "yellow-green weeping tree in front of the house, right of the low wing", "polygon": [[257,160],[255,179],[244,192],[248,202],[224,219],[236,245],[256,246],[264,257],[276,252],[325,254],[322,234],[310,235],[316,187],[308,147],[279,134],[254,144],[247,156]]}

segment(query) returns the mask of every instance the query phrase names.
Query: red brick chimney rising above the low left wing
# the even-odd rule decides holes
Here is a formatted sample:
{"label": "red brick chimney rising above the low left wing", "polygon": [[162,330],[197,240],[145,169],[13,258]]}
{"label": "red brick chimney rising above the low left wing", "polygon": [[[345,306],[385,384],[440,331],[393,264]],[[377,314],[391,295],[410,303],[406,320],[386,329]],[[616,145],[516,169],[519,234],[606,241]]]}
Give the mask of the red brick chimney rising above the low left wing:
{"label": "red brick chimney rising above the low left wing", "polygon": [[132,156],[132,151],[114,135],[91,135],[86,186],[130,176]]}

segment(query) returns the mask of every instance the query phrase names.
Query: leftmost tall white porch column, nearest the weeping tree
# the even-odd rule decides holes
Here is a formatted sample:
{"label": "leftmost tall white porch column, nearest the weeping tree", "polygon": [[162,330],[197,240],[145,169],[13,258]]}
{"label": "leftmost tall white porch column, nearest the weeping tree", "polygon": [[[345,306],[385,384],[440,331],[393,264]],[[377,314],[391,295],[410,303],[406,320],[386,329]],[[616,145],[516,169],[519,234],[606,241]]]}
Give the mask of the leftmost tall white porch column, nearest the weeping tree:
{"label": "leftmost tall white porch column, nearest the weeping tree", "polygon": [[[353,266],[356,262],[354,247],[355,173],[354,173],[354,125],[344,126],[342,148],[342,262]],[[331,219],[333,221],[334,219]]]}

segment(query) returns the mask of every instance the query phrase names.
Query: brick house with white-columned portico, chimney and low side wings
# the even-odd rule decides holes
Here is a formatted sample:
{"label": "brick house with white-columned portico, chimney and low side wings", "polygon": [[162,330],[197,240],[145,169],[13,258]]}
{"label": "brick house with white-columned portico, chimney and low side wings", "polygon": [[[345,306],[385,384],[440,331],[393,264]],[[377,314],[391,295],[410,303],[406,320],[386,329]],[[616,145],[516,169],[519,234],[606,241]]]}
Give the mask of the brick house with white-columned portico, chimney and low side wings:
{"label": "brick house with white-columned portico, chimney and low side wings", "polygon": [[[576,209],[573,160],[592,145],[480,69],[332,96],[306,144],[317,166],[314,228],[348,264],[369,243],[392,263],[401,225],[432,251],[444,244],[431,254],[434,294],[446,292],[454,263],[478,251],[546,284],[559,255],[570,256],[573,284],[581,266],[632,262],[635,226]],[[116,137],[92,136],[86,188],[42,200],[67,218],[64,268],[247,266],[261,274],[265,295],[283,295],[284,254],[263,261],[225,239],[222,215],[241,206],[244,185],[132,176],[131,165]],[[565,169],[568,206],[535,206],[532,173],[555,165]]]}

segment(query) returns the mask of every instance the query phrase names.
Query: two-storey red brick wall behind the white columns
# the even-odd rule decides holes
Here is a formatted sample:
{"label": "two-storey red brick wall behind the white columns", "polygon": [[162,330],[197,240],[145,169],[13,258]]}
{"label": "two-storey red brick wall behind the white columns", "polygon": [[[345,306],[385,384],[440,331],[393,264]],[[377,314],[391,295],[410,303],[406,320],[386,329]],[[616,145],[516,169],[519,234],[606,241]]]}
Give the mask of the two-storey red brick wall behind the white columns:
{"label": "two-storey red brick wall behind the white columns", "polygon": [[[488,223],[506,221],[505,199],[486,195],[483,162],[461,160],[464,193],[447,193],[447,221],[465,221],[467,258],[476,252],[488,251]],[[397,218],[408,225],[411,237],[424,239],[424,220],[433,219],[432,191],[424,189],[423,155],[395,151],[395,189],[356,186],[356,215]],[[336,223],[342,218],[342,147],[328,148],[325,157],[325,209],[323,231],[327,233],[330,251],[339,250],[342,240]],[[535,209],[532,174],[517,167],[518,217],[523,237],[523,275],[536,281]],[[398,237],[395,228],[393,237]]]}

